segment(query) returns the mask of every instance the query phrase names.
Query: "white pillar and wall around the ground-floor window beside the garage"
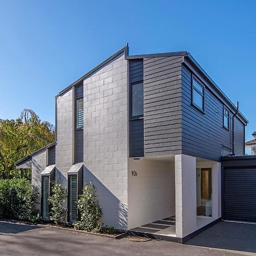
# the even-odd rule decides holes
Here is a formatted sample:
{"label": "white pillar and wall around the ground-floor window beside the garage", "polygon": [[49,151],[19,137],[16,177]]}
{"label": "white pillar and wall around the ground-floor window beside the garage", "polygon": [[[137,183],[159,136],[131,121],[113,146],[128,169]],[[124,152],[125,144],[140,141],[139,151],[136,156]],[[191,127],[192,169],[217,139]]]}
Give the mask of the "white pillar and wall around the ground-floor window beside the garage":
{"label": "white pillar and wall around the ground-floor window beside the garage", "polygon": [[[196,168],[212,168],[212,217],[196,216]],[[221,217],[221,164],[175,155],[176,237],[185,237]]]}

